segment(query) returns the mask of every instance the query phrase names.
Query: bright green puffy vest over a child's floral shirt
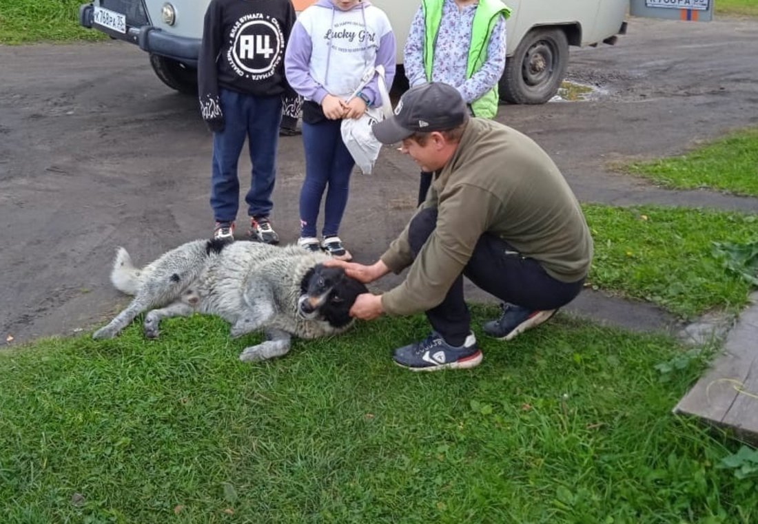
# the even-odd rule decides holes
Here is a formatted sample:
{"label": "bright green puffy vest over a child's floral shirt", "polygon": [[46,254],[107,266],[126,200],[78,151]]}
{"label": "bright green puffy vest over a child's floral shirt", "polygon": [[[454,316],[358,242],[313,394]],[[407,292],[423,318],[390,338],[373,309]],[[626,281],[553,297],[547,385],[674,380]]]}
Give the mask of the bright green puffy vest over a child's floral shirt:
{"label": "bright green puffy vest over a child's floral shirt", "polygon": [[[422,0],[424,9],[424,70],[427,81],[431,82],[431,67],[434,62],[434,42],[437,40],[437,31],[440,30],[442,20],[442,5],[444,0]],[[490,42],[490,34],[497,17],[508,18],[511,9],[500,0],[479,0],[474,15],[474,25],[471,27],[471,44],[468,46],[468,62],[466,64],[466,78],[471,78],[487,60],[487,44]],[[471,102],[471,110],[475,117],[494,118],[497,114],[497,84]]]}

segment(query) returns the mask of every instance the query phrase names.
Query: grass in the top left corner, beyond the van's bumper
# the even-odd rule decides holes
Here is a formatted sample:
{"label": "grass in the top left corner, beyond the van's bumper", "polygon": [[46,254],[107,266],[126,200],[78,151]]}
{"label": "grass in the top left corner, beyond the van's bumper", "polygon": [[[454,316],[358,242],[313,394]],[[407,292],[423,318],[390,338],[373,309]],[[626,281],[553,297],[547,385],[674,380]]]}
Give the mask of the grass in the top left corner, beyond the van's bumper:
{"label": "grass in the top left corner, beyond the van's bumper", "polygon": [[102,40],[79,25],[85,0],[0,0],[0,44]]}

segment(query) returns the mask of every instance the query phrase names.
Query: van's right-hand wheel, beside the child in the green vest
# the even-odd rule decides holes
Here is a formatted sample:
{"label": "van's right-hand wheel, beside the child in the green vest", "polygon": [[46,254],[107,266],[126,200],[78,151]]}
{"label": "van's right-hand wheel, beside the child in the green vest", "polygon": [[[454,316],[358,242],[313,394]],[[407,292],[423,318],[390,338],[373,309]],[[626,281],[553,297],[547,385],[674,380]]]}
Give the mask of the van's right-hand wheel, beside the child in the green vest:
{"label": "van's right-hand wheel, beside the child in the green vest", "polygon": [[511,104],[544,104],[556,95],[568,68],[568,39],[560,29],[536,28],[506,60],[500,98]]}

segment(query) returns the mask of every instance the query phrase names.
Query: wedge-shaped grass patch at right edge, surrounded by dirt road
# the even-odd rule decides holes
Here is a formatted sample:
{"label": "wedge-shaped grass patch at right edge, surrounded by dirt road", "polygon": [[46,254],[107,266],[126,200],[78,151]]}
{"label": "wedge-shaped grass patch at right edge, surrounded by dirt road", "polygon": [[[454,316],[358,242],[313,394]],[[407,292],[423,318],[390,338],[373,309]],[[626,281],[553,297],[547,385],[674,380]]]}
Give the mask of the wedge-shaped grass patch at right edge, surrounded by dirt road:
{"label": "wedge-shaped grass patch at right edge, surrounded by dirt road", "polygon": [[758,196],[758,129],[733,133],[679,157],[636,162],[623,169],[669,188]]}

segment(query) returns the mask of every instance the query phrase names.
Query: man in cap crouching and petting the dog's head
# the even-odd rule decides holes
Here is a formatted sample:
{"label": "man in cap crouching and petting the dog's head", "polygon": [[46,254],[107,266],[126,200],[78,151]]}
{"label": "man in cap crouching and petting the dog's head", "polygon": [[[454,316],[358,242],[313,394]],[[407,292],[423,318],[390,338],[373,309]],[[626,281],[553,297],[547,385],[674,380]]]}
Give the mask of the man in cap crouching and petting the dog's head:
{"label": "man in cap crouching and petting the dog's head", "polygon": [[409,89],[392,118],[377,123],[384,144],[434,173],[427,198],[376,263],[338,261],[361,282],[406,267],[406,279],[383,295],[359,295],[350,314],[424,311],[432,332],[397,348],[411,370],[469,368],[482,354],[471,332],[463,276],[503,300],[487,335],[510,340],[548,320],[581,291],[592,238],[581,207],[540,146],[515,129],[469,117],[459,92],[443,83]]}

